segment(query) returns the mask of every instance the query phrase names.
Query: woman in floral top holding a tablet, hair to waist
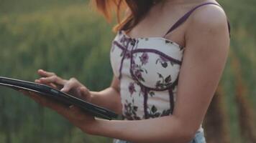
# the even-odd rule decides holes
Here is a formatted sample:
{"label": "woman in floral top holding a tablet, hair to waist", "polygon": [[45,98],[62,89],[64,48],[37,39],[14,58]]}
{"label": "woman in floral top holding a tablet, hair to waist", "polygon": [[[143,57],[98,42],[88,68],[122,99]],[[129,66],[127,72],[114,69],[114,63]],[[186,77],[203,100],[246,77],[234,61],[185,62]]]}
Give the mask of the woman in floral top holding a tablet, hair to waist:
{"label": "woman in floral top holding a tablet, hair to waist", "polygon": [[[97,119],[32,92],[36,102],[63,115],[83,132],[114,142],[206,142],[201,127],[229,51],[227,17],[214,0],[96,0],[116,26],[110,50],[111,86],[91,92],[77,79],[40,69],[35,82],[73,93],[122,114],[122,121]],[[118,14],[119,15],[119,14]]]}

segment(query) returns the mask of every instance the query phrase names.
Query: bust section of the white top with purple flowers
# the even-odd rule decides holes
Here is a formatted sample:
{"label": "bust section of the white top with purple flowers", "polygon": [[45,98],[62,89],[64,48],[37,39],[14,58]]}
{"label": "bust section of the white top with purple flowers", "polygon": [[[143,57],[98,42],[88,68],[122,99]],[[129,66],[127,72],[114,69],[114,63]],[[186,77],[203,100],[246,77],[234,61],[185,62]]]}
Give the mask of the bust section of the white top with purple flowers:
{"label": "bust section of the white top with purple flowers", "polygon": [[132,39],[120,31],[112,43],[110,58],[116,77],[164,90],[178,78],[183,46],[161,37]]}

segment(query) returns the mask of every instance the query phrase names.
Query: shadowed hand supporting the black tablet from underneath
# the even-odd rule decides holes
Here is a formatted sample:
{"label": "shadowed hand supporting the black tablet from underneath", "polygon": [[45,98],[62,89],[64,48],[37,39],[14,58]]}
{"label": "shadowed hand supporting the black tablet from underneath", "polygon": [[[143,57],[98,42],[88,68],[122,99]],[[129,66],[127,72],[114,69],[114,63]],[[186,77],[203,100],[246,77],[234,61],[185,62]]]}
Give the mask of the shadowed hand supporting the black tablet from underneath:
{"label": "shadowed hand supporting the black tablet from underneath", "polygon": [[81,111],[80,108],[74,105],[67,107],[64,104],[53,101],[52,99],[40,96],[35,92],[27,92],[24,90],[19,90],[19,92],[22,92],[28,97],[34,99],[38,104],[58,112],[58,114],[68,119],[69,122],[80,128],[83,132],[88,134],[95,134],[97,129],[96,119],[90,114],[86,114],[85,112]]}

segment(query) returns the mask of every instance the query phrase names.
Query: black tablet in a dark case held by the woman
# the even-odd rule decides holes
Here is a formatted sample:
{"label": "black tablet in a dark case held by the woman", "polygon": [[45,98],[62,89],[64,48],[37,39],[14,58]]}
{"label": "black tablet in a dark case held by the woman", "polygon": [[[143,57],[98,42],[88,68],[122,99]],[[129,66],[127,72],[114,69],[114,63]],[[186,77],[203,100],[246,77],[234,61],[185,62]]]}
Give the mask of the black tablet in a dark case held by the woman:
{"label": "black tablet in a dark case held by the woman", "polygon": [[75,105],[80,107],[85,112],[92,114],[95,117],[100,117],[103,119],[113,119],[118,115],[114,112],[111,112],[109,109],[104,107],[99,107],[96,104],[91,104],[82,99],[78,99],[70,94],[60,92],[58,89],[54,89],[45,84],[37,84],[35,82],[27,82],[19,79],[11,79],[7,77],[0,77],[0,85],[4,87],[10,87],[12,89],[24,89],[31,92],[37,92],[42,96],[50,97],[57,100],[67,106]]}

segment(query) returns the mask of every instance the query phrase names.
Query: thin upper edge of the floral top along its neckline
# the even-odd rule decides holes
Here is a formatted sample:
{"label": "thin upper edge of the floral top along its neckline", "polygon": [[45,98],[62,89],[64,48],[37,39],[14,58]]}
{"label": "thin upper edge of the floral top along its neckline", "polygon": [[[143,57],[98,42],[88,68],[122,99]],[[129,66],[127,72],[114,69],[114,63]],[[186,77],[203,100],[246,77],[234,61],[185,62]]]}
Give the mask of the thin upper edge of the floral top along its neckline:
{"label": "thin upper edge of the floral top along its neckline", "polygon": [[137,37],[137,38],[132,38],[124,30],[120,30],[120,33],[124,36],[126,36],[128,39],[135,39],[135,40],[140,40],[140,39],[160,39],[160,40],[165,40],[168,41],[170,44],[173,44],[174,46],[178,46],[179,49],[184,49],[184,46],[181,46],[180,44],[176,43],[175,41],[172,41],[170,39],[166,39],[162,36],[142,36],[142,37]]}

